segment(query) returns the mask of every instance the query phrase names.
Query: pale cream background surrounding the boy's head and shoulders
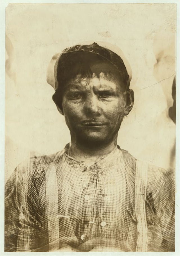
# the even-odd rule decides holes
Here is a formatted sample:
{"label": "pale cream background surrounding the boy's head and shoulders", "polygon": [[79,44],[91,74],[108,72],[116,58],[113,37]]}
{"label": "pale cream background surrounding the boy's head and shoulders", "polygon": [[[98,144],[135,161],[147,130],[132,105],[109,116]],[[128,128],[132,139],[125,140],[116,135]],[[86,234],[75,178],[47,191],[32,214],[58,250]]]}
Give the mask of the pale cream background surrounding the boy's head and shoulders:
{"label": "pale cream background surrounding the boy's head and shoulders", "polygon": [[116,44],[131,64],[135,102],[120,128],[120,147],[175,168],[176,127],[167,113],[176,74],[176,4],[11,4],[6,35],[5,180],[30,152],[55,153],[70,141],[46,70],[55,53],[82,41]]}

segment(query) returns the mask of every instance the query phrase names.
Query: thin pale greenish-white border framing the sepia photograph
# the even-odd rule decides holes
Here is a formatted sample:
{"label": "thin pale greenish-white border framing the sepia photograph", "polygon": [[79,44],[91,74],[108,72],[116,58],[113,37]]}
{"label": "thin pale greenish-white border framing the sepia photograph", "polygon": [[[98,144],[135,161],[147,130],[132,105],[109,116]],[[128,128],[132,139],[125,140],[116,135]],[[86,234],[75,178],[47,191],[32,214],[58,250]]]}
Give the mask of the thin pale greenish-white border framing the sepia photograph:
{"label": "thin pale greenish-white border framing the sepia photograph", "polygon": [[[37,0],[37,1],[31,1],[31,0],[26,0],[26,1],[1,1],[1,101],[0,101],[0,110],[1,110],[1,130],[0,130],[0,137],[1,137],[1,181],[0,181],[0,192],[1,192],[1,210],[0,210],[0,220],[1,220],[1,236],[0,236],[0,254],[1,255],[179,255],[179,241],[180,241],[180,236],[179,236],[179,229],[180,229],[180,224],[179,224],[179,206],[180,206],[180,200],[179,200],[179,184],[180,184],[180,178],[179,178],[179,170],[180,170],[180,161],[179,161],[179,144],[180,144],[180,89],[179,89],[179,84],[180,84],[180,79],[179,79],[179,72],[177,72],[176,75],[176,83],[178,86],[176,87],[176,245],[175,245],[175,252],[147,252],[147,253],[138,253],[138,252],[121,252],[121,253],[84,253],[84,252],[78,252],[78,253],[51,253],[51,252],[39,252],[39,253],[10,253],[10,252],[4,252],[4,95],[5,95],[5,8],[9,3],[50,3],[50,1],[46,0]],[[76,3],[176,3],[177,4],[177,68],[176,70],[180,70],[180,65],[179,65],[179,34],[180,34],[180,16],[179,16],[179,0],[176,1],[118,1],[118,0],[104,0],[104,1],[53,1],[53,3],[69,3],[69,4],[76,4]],[[51,2],[52,4],[52,2]]]}

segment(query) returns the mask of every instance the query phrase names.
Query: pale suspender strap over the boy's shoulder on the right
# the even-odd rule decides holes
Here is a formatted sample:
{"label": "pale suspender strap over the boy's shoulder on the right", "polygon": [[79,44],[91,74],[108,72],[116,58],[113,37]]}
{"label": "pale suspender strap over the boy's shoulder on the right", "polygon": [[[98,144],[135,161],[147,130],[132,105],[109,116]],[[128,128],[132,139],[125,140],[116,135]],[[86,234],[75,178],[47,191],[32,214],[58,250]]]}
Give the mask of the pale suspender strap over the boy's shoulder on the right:
{"label": "pale suspender strap over the boy's shoulder on the right", "polygon": [[136,251],[147,251],[147,221],[146,221],[146,189],[147,189],[147,173],[148,164],[140,160],[136,160],[136,176],[135,176],[135,213],[137,218],[137,245]]}

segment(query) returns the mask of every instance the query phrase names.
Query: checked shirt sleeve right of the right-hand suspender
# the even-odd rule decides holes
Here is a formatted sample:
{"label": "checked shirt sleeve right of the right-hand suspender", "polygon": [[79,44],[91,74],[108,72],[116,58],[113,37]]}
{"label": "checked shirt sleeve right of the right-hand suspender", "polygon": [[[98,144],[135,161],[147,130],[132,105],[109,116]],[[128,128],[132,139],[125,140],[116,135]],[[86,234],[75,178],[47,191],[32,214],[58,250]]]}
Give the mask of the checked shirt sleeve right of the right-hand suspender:
{"label": "checked shirt sleeve right of the right-hand suspender", "polygon": [[[152,175],[153,174],[153,175]],[[147,197],[148,251],[175,250],[175,177],[154,168]]]}

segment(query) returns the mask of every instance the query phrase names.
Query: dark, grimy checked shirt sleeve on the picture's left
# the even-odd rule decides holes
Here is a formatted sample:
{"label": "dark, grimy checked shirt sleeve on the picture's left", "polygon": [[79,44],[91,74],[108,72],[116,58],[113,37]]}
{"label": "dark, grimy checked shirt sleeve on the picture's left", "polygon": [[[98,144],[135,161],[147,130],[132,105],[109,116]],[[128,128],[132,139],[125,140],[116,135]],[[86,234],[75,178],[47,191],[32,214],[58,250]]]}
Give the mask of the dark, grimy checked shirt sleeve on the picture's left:
{"label": "dark, grimy checked shirt sleeve on the picture's left", "polygon": [[5,185],[4,251],[33,251],[41,246],[39,190],[44,175],[32,168],[34,159],[19,165]]}

